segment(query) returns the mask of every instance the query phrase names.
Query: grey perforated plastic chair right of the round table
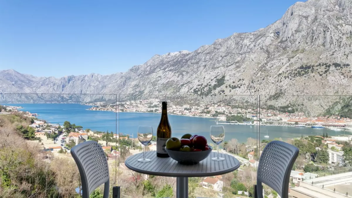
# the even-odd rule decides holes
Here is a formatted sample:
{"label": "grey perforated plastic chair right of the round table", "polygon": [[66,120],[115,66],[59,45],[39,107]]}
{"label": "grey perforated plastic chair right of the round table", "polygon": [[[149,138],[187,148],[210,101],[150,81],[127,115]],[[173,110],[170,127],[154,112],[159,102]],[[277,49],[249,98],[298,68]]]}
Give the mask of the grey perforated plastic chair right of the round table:
{"label": "grey perforated plastic chair right of the round table", "polygon": [[257,170],[257,195],[263,198],[262,183],[274,189],[282,198],[288,198],[290,173],[298,156],[295,146],[272,141],[263,150]]}

